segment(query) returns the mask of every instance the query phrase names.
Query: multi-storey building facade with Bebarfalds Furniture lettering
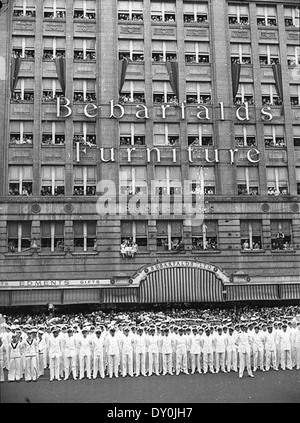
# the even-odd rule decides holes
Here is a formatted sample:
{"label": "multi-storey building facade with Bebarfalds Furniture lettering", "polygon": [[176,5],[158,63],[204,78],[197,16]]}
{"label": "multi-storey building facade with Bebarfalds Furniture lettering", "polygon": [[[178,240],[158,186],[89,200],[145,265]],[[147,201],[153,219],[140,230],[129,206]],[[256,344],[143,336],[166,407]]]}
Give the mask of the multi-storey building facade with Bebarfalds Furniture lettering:
{"label": "multi-storey building facade with Bebarfalds Furniture lettering", "polygon": [[297,0],[0,21],[0,306],[300,298]]}

